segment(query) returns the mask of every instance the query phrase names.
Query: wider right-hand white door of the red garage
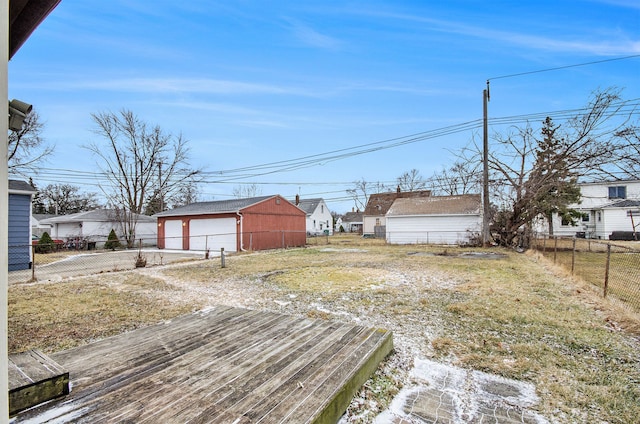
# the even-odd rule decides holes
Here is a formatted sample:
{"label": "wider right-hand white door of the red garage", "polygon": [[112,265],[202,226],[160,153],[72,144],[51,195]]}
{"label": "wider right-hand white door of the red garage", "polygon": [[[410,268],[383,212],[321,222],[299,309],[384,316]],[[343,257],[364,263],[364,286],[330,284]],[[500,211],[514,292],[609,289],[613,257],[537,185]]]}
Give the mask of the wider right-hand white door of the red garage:
{"label": "wider right-hand white door of the red garage", "polygon": [[189,225],[189,250],[236,251],[236,219],[192,219]]}

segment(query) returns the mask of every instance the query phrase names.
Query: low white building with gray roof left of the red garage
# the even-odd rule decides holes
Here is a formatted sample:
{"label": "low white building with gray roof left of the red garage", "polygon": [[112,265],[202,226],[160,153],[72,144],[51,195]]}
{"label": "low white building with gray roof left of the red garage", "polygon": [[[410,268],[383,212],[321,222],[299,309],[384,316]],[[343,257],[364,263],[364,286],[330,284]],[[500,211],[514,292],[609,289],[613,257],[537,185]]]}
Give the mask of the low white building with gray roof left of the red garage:
{"label": "low white building with gray roof left of the red garage", "polygon": [[[51,225],[52,239],[65,242],[96,242],[104,244],[113,229],[120,241],[124,242],[122,224],[112,209],[95,209],[69,215],[59,215],[54,218],[43,219],[40,225]],[[156,219],[147,215],[138,215],[135,228],[136,239],[142,239],[144,244],[155,243],[157,238]],[[100,247],[100,246],[98,246]]]}

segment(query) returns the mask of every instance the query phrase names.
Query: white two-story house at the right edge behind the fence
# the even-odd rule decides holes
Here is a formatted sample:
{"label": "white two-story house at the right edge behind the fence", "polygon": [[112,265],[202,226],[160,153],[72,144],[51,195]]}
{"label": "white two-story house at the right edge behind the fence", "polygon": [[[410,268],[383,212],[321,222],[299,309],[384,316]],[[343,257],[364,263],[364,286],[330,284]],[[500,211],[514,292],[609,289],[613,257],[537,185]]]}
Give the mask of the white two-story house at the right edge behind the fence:
{"label": "white two-story house at the right edge behind the fence", "polygon": [[580,222],[572,225],[553,217],[557,236],[609,239],[613,232],[640,231],[640,180],[581,183],[579,204],[571,208],[582,212]]}

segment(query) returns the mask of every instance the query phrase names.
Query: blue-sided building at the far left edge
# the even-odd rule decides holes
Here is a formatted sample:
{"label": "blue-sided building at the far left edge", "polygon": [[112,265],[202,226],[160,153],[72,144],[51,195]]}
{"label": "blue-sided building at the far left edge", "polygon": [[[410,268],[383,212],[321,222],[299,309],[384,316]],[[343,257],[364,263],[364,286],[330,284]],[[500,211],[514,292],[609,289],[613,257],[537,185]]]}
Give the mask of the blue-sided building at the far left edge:
{"label": "blue-sided building at the far left edge", "polygon": [[9,180],[9,271],[31,268],[31,200],[35,193],[31,184]]}

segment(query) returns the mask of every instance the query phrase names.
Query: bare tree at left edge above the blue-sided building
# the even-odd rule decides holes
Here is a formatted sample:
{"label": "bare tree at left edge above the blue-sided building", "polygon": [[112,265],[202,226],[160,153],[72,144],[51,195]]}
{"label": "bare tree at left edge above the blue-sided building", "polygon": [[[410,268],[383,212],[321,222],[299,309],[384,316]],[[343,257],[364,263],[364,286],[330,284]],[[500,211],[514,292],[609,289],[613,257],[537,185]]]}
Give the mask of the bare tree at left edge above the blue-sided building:
{"label": "bare tree at left edge above the blue-sided building", "polygon": [[40,115],[32,110],[24,119],[20,131],[9,131],[9,172],[27,176],[36,173],[38,167],[53,152],[53,147],[44,143]]}

